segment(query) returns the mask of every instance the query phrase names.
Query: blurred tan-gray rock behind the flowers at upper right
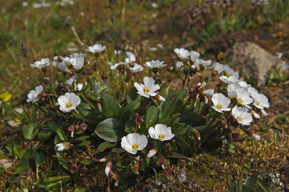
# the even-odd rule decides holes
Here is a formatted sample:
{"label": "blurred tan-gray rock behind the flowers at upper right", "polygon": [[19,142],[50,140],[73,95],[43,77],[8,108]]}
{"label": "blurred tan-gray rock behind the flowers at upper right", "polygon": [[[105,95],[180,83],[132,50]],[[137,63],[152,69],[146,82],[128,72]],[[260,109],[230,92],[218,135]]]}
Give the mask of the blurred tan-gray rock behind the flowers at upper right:
{"label": "blurred tan-gray rock behind the flowers at upper right", "polygon": [[288,63],[278,59],[259,45],[246,41],[235,43],[228,56],[233,68],[242,69],[245,74],[257,78],[258,84],[265,84],[268,71],[275,64],[287,70]]}

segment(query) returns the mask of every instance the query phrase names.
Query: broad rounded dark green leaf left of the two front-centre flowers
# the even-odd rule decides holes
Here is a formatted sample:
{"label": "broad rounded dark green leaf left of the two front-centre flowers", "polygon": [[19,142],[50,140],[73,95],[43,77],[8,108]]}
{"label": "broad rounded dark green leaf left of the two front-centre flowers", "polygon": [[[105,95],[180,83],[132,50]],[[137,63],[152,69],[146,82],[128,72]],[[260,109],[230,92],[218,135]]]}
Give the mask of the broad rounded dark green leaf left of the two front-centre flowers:
{"label": "broad rounded dark green leaf left of the two front-centre flowers", "polygon": [[124,124],[114,118],[101,121],[94,131],[100,138],[109,142],[117,142],[127,135]]}

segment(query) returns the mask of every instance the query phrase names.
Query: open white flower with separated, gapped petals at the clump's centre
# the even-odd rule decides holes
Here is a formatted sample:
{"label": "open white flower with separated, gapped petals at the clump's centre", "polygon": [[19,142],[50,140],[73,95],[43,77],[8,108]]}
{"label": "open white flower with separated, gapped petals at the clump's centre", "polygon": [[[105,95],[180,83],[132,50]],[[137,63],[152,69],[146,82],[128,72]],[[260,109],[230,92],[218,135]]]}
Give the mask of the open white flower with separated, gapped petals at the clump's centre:
{"label": "open white flower with separated, gapped petals at the clump's centre", "polygon": [[149,96],[155,96],[157,94],[155,91],[160,89],[160,85],[155,85],[155,80],[152,77],[144,77],[143,81],[144,84],[134,83],[134,86],[138,90],[137,93],[147,98],[149,98]]}

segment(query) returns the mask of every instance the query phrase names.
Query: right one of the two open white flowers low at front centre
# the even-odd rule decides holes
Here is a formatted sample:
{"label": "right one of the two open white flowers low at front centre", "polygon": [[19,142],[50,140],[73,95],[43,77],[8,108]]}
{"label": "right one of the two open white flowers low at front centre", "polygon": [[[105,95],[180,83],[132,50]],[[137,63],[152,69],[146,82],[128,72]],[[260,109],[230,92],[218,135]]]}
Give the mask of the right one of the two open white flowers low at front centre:
{"label": "right one of the two open white flowers low at front centre", "polygon": [[156,124],[155,128],[149,128],[149,135],[153,139],[160,139],[160,141],[171,140],[175,136],[172,134],[171,127],[164,124]]}

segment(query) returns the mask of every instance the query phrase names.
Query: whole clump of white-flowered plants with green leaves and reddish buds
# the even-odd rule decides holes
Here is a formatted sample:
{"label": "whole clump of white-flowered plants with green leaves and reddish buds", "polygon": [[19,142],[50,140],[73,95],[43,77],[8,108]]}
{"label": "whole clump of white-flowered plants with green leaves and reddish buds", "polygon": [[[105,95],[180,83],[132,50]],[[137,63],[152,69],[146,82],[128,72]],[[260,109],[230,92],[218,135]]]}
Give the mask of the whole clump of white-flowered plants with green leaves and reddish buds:
{"label": "whole clump of white-flowered plants with green leaves and reddish buds", "polygon": [[[157,167],[172,173],[170,160],[196,153],[198,145],[219,147],[225,139],[240,141],[239,131],[260,140],[250,127],[260,115],[267,115],[268,98],[229,65],[202,60],[198,52],[184,48],[174,50],[176,64],[170,68],[159,60],[143,63],[137,52],[123,57],[115,51],[112,57],[118,62],[112,63],[102,54],[105,48],[95,44],[87,48],[90,55],[55,56],[57,81],[46,76],[47,67],[53,67],[49,58],[30,64],[32,71],[41,69],[44,78],[34,77],[38,86],[27,95],[31,114],[18,114],[28,124],[23,136],[32,140],[37,135],[40,146],[54,137],[57,159],[71,173],[86,175],[86,165],[95,161],[104,164],[108,190],[113,180],[117,186],[148,168],[157,183]],[[22,42],[21,50],[26,50]],[[28,62],[27,52],[22,55]],[[205,70],[210,70],[209,77]],[[176,79],[182,79],[183,89],[170,89]],[[47,119],[41,124],[40,111]],[[77,151],[77,146],[90,145],[92,138],[103,141],[99,153]],[[38,168],[44,155],[36,150],[29,148],[23,156],[34,156]],[[67,162],[72,162],[70,168]],[[38,170],[36,174],[36,184],[45,186]]]}

